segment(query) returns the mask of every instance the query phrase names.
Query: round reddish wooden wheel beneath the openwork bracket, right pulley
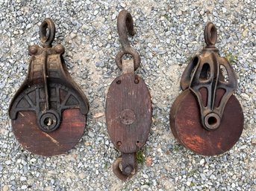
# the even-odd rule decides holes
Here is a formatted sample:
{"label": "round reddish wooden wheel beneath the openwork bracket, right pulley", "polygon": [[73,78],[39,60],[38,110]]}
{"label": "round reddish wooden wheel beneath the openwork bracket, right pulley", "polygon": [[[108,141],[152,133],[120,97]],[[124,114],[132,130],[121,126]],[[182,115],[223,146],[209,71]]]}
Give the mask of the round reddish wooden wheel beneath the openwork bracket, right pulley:
{"label": "round reddish wooden wheel beneath the openwork bracket, right pulley", "polygon": [[[217,91],[217,99],[222,94]],[[207,94],[202,93],[202,97],[206,100]],[[173,135],[187,149],[199,155],[220,155],[239,140],[243,132],[243,110],[232,95],[225,106],[219,128],[208,131],[202,126],[196,97],[187,89],[172,105],[170,125]]]}

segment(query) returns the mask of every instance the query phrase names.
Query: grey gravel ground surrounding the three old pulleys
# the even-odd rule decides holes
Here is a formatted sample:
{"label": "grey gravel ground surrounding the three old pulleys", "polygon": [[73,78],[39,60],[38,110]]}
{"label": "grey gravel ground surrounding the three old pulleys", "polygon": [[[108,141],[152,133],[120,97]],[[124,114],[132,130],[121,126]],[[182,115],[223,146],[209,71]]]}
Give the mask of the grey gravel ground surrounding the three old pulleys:
{"label": "grey gravel ground surrounding the three old pulleys", "polygon": [[[256,4],[245,1],[0,1],[0,188],[1,190],[256,190]],[[140,53],[137,70],[152,94],[153,121],[145,158],[130,181],[113,175],[119,156],[107,135],[104,112],[107,88],[121,72],[114,58],[120,45],[116,16],[125,8],[134,17],[131,44]],[[27,73],[28,45],[39,44],[39,25],[51,17],[56,43],[66,48],[69,72],[90,101],[87,129],[66,155],[32,155],[16,141],[7,108]],[[238,77],[238,100],[245,126],[240,140],[223,155],[196,155],[169,129],[169,109],[181,92],[187,61],[202,50],[203,31],[212,21],[222,56]]]}

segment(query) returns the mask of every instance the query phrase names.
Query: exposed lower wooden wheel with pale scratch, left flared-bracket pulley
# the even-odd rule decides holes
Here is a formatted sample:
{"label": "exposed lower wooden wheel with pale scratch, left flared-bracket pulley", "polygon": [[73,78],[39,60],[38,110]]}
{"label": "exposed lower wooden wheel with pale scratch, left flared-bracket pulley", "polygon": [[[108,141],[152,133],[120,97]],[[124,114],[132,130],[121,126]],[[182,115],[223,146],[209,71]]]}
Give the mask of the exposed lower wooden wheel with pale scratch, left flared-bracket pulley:
{"label": "exposed lower wooden wheel with pale scratch, left flared-bracket pulley", "polygon": [[66,109],[59,128],[46,133],[38,127],[34,111],[19,111],[12,126],[16,139],[28,151],[36,155],[60,155],[72,149],[84,134],[86,115],[80,109]]}

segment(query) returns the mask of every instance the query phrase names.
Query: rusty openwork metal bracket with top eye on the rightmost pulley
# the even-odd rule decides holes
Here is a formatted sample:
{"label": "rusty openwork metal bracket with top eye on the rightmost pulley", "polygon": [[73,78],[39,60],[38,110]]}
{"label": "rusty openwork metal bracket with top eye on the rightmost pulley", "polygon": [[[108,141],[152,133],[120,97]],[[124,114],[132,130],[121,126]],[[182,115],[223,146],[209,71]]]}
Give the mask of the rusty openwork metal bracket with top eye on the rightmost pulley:
{"label": "rusty openwork metal bracket with top eye on the rightmost pulley", "polygon": [[[181,76],[181,88],[190,88],[199,103],[201,123],[205,129],[213,131],[219,127],[228,99],[237,88],[237,78],[228,60],[219,56],[215,47],[216,27],[207,23],[205,27],[206,47],[187,65]],[[224,71],[226,71],[226,76]],[[207,91],[207,99],[200,92]],[[216,91],[222,91],[222,97],[216,100]]]}

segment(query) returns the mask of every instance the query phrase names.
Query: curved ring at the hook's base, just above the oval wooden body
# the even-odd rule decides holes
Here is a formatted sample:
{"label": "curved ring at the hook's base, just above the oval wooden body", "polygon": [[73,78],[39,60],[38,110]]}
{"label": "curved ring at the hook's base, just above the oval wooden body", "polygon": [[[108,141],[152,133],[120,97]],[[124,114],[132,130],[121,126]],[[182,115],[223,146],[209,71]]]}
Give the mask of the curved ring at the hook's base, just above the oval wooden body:
{"label": "curved ring at the hook's base, just above the oval wooden body", "polygon": [[118,66],[118,68],[120,70],[122,70],[122,56],[124,56],[125,54],[131,54],[131,56],[133,56],[134,71],[136,71],[137,68],[139,68],[139,66],[140,66],[140,54],[138,54],[138,52],[135,51],[134,48],[131,48],[131,47],[122,49],[121,51],[118,52],[118,54],[116,54],[116,65]]}

